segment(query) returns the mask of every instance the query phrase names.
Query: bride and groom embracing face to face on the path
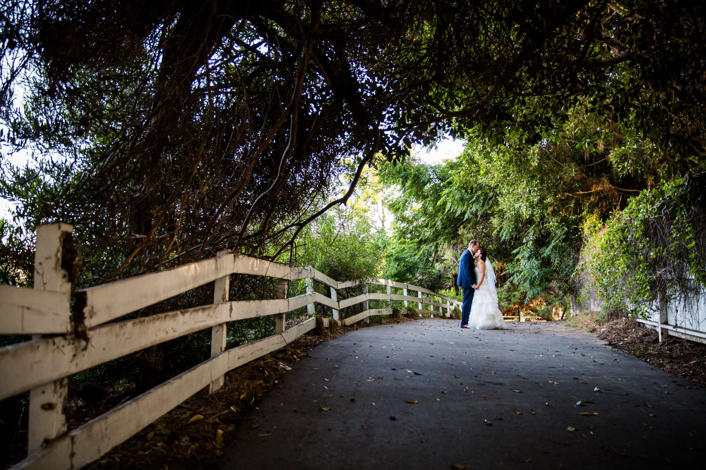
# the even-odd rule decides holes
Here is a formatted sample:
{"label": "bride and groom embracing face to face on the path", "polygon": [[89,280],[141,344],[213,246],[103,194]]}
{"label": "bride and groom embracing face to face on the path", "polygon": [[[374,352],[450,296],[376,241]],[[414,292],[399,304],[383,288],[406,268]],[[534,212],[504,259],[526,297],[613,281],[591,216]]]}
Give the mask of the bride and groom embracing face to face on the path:
{"label": "bride and groom embracing face to face on the path", "polygon": [[478,240],[471,240],[458,261],[456,284],[463,287],[461,328],[497,330],[505,326],[498,309],[495,282],[495,271],[486,250],[478,246]]}

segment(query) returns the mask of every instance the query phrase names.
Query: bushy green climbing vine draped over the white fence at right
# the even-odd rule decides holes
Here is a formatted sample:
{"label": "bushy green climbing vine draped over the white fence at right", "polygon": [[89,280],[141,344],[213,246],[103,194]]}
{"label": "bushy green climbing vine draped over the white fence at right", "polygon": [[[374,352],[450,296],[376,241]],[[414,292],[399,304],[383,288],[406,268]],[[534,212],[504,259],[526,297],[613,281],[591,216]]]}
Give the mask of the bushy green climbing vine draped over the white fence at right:
{"label": "bushy green climbing vine draped over the white fence at right", "polygon": [[606,309],[642,314],[659,308],[658,295],[684,299],[706,286],[706,214],[692,185],[663,181],[588,230],[594,249],[585,263]]}

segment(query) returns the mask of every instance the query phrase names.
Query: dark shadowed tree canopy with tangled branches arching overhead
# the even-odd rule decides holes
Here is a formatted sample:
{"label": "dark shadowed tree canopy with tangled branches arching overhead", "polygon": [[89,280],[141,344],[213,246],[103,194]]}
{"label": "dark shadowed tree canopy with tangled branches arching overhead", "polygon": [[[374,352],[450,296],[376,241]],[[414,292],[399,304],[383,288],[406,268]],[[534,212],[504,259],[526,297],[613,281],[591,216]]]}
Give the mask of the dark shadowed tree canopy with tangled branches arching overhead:
{"label": "dark shadowed tree canopy with tangled branches arching overhead", "polygon": [[[1,195],[30,227],[77,225],[107,253],[88,260],[105,279],[226,247],[280,256],[376,155],[401,161],[447,133],[493,149],[602,142],[570,156],[579,166],[620,142],[621,178],[693,177],[703,13],[640,0],[7,1],[2,143],[45,158],[4,165]],[[591,137],[556,129],[579,106]],[[505,158],[522,171],[534,157]]]}

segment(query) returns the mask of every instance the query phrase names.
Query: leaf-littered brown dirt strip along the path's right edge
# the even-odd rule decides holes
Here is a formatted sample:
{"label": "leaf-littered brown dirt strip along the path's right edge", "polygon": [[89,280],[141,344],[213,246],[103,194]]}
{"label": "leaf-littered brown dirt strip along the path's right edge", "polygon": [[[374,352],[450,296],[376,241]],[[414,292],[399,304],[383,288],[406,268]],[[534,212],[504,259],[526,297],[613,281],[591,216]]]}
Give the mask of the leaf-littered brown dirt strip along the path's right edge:
{"label": "leaf-littered brown dirt strip along the path's right edge", "polygon": [[[593,320],[593,321],[592,321]],[[595,319],[574,319],[575,326],[595,332],[611,347],[623,350],[673,376],[681,376],[695,385],[706,387],[706,345],[669,336],[659,342],[656,330],[635,319],[618,318],[607,323]],[[571,325],[574,326],[574,325]]]}

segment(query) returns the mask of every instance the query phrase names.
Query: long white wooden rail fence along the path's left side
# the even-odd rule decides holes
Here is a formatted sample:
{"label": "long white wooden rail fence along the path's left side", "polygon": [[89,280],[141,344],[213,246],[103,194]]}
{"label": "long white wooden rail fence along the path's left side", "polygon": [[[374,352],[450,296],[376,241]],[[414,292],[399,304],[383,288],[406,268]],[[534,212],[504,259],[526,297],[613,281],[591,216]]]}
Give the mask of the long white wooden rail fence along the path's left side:
{"label": "long white wooden rail fence along the path's left side", "polygon": [[[71,225],[56,223],[37,228],[35,286],[0,285],[0,334],[32,335],[32,340],[0,348],[0,400],[30,391],[28,457],[13,469],[78,469],[119,445],[194,393],[223,385],[227,371],[284,347],[316,326],[311,318],[285,330],[285,315],[314,304],[332,309],[336,321],[350,325],[369,316],[390,314],[392,309],[369,309],[369,300],[416,302],[419,313],[450,316],[460,302],[422,287],[378,279],[387,293],[368,292],[337,300],[337,290],[359,285],[338,282],[313,268],[292,268],[249,256],[220,252],[218,256],[166,271],[136,276],[76,292],[70,308],[71,282],[65,261],[64,240],[72,237]],[[229,276],[233,273],[279,279],[276,299],[229,301]],[[290,280],[306,280],[306,294],[287,298]],[[330,287],[330,297],[313,290],[313,280]],[[213,304],[169,311],[139,319],[114,321],[143,307],[183,292],[215,283]],[[395,295],[392,288],[402,289]],[[417,296],[407,295],[416,291]],[[424,297],[424,295],[428,297]],[[436,302],[438,297],[445,303]],[[340,311],[355,304],[364,311],[340,320]],[[421,310],[422,304],[431,306]],[[444,309],[445,311],[442,311]],[[226,323],[276,315],[275,334],[246,345],[226,349]],[[107,323],[114,321],[112,323]],[[152,390],[109,412],[67,431],[64,405],[68,376],[145,347],[211,328],[211,357]]]}

